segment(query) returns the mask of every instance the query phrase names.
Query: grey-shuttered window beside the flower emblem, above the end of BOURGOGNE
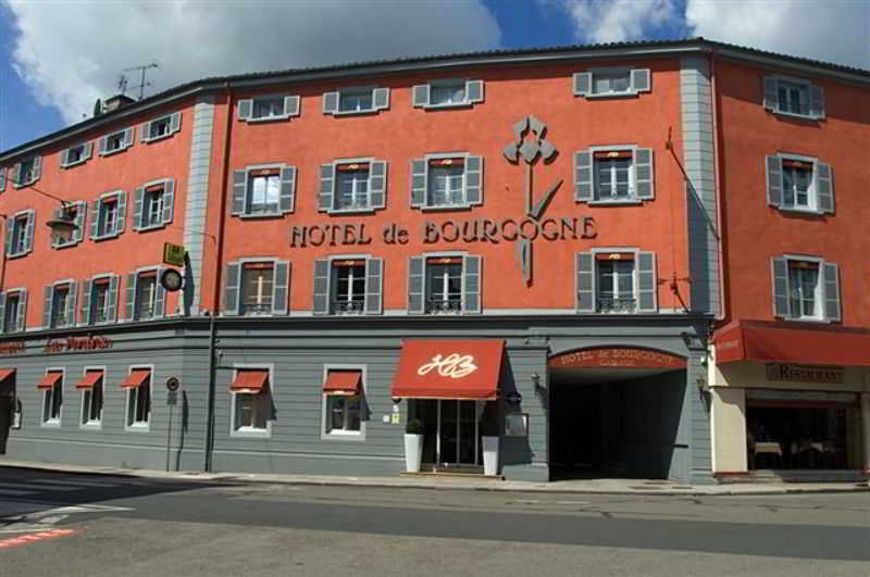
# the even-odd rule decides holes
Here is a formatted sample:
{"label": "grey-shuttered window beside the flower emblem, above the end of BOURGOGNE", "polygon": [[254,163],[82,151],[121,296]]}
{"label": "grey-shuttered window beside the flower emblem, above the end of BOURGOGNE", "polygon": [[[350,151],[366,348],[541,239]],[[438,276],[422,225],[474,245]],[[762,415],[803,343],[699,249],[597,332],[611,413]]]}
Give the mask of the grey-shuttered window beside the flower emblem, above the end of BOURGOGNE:
{"label": "grey-shuttered window beside the flower emblem, above the end of BOURGOGNE", "polygon": [[606,148],[574,154],[574,200],[637,203],[655,198],[652,149]]}

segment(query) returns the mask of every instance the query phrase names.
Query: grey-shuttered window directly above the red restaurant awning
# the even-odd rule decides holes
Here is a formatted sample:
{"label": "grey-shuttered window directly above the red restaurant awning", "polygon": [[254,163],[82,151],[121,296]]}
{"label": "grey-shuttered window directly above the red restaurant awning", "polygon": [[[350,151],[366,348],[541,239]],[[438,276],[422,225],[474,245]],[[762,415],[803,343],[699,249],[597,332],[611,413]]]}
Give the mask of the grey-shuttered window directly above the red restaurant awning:
{"label": "grey-shuttered window directly above the red restaurant awning", "polygon": [[836,322],[840,312],[837,265],[820,259],[774,258],[773,314],[796,321]]}

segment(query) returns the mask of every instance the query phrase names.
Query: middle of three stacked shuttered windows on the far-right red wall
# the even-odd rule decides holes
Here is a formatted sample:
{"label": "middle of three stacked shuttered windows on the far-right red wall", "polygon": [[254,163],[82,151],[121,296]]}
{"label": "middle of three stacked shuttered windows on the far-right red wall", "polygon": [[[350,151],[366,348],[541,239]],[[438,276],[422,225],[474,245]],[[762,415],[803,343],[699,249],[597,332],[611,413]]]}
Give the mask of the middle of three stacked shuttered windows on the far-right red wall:
{"label": "middle of three stacked shuttered windows on the far-right red wall", "polygon": [[788,154],[774,154],[766,160],[768,204],[780,210],[833,214],[831,165]]}

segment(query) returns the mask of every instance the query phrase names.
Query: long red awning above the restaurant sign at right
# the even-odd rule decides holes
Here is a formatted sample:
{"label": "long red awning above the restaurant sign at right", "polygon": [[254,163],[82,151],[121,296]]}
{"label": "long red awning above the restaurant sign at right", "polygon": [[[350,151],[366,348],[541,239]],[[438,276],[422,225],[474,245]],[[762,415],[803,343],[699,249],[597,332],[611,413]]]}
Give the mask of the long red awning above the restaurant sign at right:
{"label": "long red awning above the restaurant sign at right", "polygon": [[713,335],[716,364],[737,361],[870,366],[870,330],[735,321]]}

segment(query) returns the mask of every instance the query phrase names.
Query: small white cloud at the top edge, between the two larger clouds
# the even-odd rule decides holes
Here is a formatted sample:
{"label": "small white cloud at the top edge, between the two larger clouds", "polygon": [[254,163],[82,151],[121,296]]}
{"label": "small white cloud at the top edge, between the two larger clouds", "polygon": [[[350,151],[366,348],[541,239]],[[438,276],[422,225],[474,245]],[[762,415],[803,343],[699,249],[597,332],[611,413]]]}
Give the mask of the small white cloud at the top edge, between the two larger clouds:
{"label": "small white cloud at the top edge, between the two larger clouds", "polygon": [[673,0],[538,0],[566,12],[583,42],[625,42],[648,37],[680,16]]}

